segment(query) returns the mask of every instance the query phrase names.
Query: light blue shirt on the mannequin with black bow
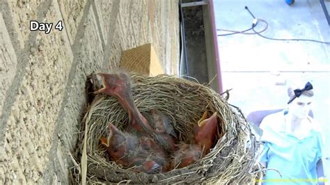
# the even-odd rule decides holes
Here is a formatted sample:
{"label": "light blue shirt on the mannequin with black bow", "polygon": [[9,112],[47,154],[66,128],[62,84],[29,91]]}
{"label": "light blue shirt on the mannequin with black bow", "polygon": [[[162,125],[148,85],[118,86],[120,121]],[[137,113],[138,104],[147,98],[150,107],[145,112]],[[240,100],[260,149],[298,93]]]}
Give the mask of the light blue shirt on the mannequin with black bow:
{"label": "light blue shirt on the mannequin with black bow", "polygon": [[[311,119],[312,120],[312,119]],[[275,113],[262,122],[265,142],[261,161],[267,168],[281,172],[282,177],[274,170],[267,170],[262,184],[317,184],[316,163],[322,157],[322,134],[313,127],[297,137],[285,127],[283,112]]]}

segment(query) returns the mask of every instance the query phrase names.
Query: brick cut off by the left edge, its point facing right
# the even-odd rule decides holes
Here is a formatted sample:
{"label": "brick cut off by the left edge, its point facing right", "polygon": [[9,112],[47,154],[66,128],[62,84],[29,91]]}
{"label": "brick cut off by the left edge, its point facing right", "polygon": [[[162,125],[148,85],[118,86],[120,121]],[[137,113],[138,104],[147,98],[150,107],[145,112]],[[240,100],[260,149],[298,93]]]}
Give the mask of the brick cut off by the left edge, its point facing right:
{"label": "brick cut off by the left edge, its point facing right", "polygon": [[0,115],[2,115],[6,91],[15,77],[17,57],[1,13],[0,25],[3,25],[0,26]]}

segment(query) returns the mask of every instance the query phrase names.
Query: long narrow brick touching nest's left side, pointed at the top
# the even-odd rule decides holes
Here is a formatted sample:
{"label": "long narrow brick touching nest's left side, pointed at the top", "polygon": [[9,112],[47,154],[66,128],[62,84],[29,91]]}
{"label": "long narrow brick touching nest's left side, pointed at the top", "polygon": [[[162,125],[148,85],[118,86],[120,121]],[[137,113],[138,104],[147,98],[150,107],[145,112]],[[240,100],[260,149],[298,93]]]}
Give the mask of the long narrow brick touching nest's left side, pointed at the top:
{"label": "long narrow brick touching nest's left side, pointed at the top", "polygon": [[[54,168],[45,169],[45,181],[48,184],[61,182],[67,184],[69,156],[68,151],[73,152],[77,142],[77,127],[81,124],[81,112],[86,108],[86,95],[85,95],[85,81],[86,77],[92,72],[100,71],[103,64],[103,48],[100,38],[100,31],[98,30],[95,15],[92,6],[88,9],[88,15],[81,24],[84,24],[84,31],[80,32],[81,40],[79,45],[76,45],[77,53],[74,53],[74,76],[68,79],[68,89],[65,92],[65,104],[62,107],[63,115],[61,120],[58,120],[58,132],[55,136],[61,140],[55,140],[52,145],[56,145],[55,152],[52,151],[52,158],[54,161]],[[73,67],[73,66],[72,66]],[[62,145],[64,144],[64,145]],[[54,172],[59,172],[52,175]]]}

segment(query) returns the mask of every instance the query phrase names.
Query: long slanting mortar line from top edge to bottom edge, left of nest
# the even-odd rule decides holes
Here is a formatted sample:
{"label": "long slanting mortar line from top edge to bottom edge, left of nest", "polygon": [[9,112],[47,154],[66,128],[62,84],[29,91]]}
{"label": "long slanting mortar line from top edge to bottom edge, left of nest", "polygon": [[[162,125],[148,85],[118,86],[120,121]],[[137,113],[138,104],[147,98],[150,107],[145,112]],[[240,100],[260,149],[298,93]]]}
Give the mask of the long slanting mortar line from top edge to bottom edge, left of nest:
{"label": "long slanting mortar line from top edge to bottom edge, left of nest", "polygon": [[[89,13],[90,9],[91,9],[91,1],[87,0],[84,11],[83,11],[83,15],[81,17],[79,26],[77,28],[77,34],[76,34],[76,37],[74,38],[74,43],[73,43],[73,45],[71,45],[73,60],[72,60],[71,68],[70,68],[70,73],[68,76],[68,81],[65,85],[64,95],[68,95],[68,93],[72,90],[71,85],[72,85],[72,81],[75,77],[75,71],[76,71],[78,63],[81,62],[79,60],[79,52],[81,51],[81,47],[82,47],[80,40],[84,38],[84,32],[85,32],[84,23],[86,22],[86,20],[88,18],[88,13]],[[51,145],[49,153],[48,153],[48,159],[53,159],[53,161],[47,163],[47,166],[45,167],[45,169],[43,171],[44,176],[42,177],[42,179],[43,179],[44,184],[49,184],[49,183],[47,183],[47,180],[52,179],[51,177],[53,175],[53,172],[56,172],[54,161],[59,160],[58,156],[56,155],[56,151],[57,151],[57,147],[58,147],[58,133],[60,133],[61,128],[62,128],[63,117],[65,116],[64,108],[65,108],[65,105],[68,103],[68,98],[69,98],[68,96],[63,97],[61,106],[60,106],[61,108],[59,109],[60,111],[56,118],[55,129],[54,129],[54,133],[52,136],[52,145]],[[63,174],[61,174],[59,176],[63,176]],[[60,177],[60,179],[63,179],[63,178]],[[65,182],[62,182],[62,183],[65,184]]]}

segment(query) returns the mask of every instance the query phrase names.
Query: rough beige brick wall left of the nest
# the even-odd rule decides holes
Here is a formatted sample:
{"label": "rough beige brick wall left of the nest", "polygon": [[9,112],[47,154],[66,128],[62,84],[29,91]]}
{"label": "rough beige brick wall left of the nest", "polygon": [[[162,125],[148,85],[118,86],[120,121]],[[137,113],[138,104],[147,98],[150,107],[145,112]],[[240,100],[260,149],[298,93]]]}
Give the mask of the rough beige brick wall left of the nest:
{"label": "rough beige brick wall left of the nest", "polygon": [[[178,0],[0,1],[0,184],[68,184],[84,81],[151,42],[177,74]],[[30,21],[53,23],[49,34]],[[63,21],[63,31],[54,29]]]}

